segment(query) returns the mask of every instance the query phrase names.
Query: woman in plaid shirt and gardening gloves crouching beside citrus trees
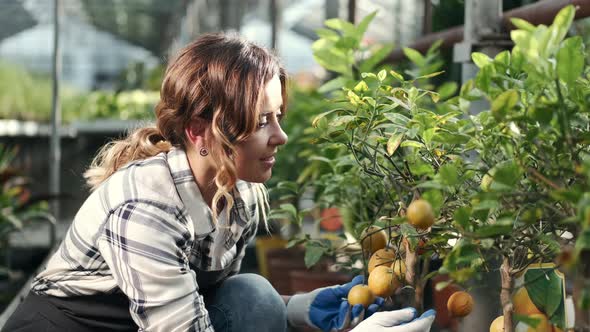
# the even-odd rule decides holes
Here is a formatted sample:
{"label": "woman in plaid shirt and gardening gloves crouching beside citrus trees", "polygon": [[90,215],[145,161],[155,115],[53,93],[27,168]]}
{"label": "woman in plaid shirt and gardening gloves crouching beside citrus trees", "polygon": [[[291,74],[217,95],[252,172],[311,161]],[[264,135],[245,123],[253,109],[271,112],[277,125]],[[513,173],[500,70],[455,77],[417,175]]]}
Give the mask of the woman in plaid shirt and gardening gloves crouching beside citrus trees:
{"label": "woman in plaid shirt and gardening gloves crouching beside citrus trees", "polygon": [[[3,330],[285,331],[287,321],[340,330],[359,323],[365,310],[342,300],[358,278],[284,297],[285,305],[264,278],[237,274],[246,244],[266,227],[262,183],[287,142],[279,124],[285,88],[278,60],[237,37],[207,34],[181,50],[166,70],[156,126],[98,153],[85,173],[92,194]],[[411,320],[410,311],[381,320]],[[371,319],[362,324],[376,330]]]}

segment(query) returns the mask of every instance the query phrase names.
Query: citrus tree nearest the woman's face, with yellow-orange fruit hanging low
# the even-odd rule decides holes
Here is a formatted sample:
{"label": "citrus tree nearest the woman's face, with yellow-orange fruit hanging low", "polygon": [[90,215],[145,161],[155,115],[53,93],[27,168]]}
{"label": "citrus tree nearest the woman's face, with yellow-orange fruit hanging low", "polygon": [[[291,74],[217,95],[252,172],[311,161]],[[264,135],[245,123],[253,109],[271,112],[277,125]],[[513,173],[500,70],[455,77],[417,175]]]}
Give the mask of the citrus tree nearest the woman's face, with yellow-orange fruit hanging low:
{"label": "citrus tree nearest the woman's face, with yellow-orange fruit hanging low", "polygon": [[[465,183],[471,181],[474,172],[463,171],[465,163],[459,156],[473,130],[472,122],[459,118],[458,107],[436,105],[456,90],[454,83],[430,90],[433,86],[429,79],[441,73],[440,44],[433,45],[425,55],[406,49],[414,66],[405,76],[388,69],[363,70],[377,66],[390,51],[376,47],[377,51],[371,53],[361,47],[362,34],[374,15],[363,19],[358,27],[329,20],[326,25],[333,30],[319,32],[321,39],[314,44],[314,55],[340,75],[320,88],[331,92],[333,109],[320,114],[313,123],[321,151],[310,159],[328,169],[303,179],[315,189],[318,204],[343,208],[345,219],[351,223],[348,231],[363,245],[357,251],[347,246],[334,249],[329,241],[308,235],[291,243],[306,242],[308,265],[324,254],[342,251],[351,258],[350,263],[361,259],[364,266],[371,266],[367,260],[379,259],[383,253],[379,250],[383,249],[388,257],[373,263],[381,277],[369,276],[369,283],[373,280],[380,284],[383,292],[377,295],[387,296],[396,290],[394,285],[405,284],[405,288],[416,290],[410,297],[420,306],[424,283],[432,274],[426,275],[430,255],[425,255],[419,268],[416,249],[421,244],[420,252],[441,255],[450,249],[447,241],[455,236],[452,228],[440,223],[435,236],[429,229],[435,216],[451,220],[452,210],[465,204],[460,200],[467,194],[462,192],[470,188]],[[280,183],[278,188],[298,193],[292,183]],[[275,216],[290,214],[301,222],[305,211],[284,204],[274,212]],[[392,268],[392,264],[397,265]]]}

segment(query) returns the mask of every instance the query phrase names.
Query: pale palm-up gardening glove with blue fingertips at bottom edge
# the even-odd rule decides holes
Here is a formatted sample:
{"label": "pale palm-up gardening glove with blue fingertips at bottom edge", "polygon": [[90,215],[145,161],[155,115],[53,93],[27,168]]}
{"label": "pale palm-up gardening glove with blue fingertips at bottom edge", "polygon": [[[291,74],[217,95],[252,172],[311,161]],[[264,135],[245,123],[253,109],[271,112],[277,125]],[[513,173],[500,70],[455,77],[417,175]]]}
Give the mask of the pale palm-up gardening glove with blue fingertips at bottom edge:
{"label": "pale palm-up gardening glove with blue fingertips at bottom edge", "polygon": [[436,311],[428,310],[416,317],[416,309],[381,311],[361,322],[351,332],[428,332]]}

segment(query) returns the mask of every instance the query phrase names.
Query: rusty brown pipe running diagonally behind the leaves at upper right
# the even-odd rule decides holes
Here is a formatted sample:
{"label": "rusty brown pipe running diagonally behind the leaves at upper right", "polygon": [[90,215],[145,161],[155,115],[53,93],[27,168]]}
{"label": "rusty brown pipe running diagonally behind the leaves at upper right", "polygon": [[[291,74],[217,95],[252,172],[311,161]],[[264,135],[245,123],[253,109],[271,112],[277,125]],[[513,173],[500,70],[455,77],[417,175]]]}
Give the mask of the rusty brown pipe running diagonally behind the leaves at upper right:
{"label": "rusty brown pipe running diagonally behind the leaves at upper right", "polygon": [[[559,10],[570,4],[574,5],[577,9],[576,19],[590,16],[590,1],[588,0],[544,0],[504,12],[502,14],[502,24],[506,31],[514,29],[514,26],[510,22],[510,19],[513,17],[525,19],[536,25],[550,24],[553,22],[553,18],[557,15]],[[441,47],[452,47],[454,44],[463,41],[463,26],[461,25],[425,35],[408,47],[424,53],[428,50],[430,45],[439,39],[443,40]],[[385,59],[385,62],[397,62],[404,58],[405,55],[403,50],[398,48]]]}

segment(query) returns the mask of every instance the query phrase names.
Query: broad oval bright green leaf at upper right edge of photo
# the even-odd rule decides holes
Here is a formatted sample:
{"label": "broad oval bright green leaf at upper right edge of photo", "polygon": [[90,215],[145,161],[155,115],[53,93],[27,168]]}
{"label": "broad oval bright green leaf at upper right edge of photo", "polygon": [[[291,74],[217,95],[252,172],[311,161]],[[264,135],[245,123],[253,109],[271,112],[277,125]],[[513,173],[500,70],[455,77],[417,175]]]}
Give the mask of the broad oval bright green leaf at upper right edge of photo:
{"label": "broad oval bright green leaf at upper right edge of photo", "polygon": [[557,76],[566,84],[573,84],[584,70],[582,37],[566,39],[557,52]]}

